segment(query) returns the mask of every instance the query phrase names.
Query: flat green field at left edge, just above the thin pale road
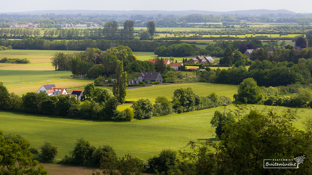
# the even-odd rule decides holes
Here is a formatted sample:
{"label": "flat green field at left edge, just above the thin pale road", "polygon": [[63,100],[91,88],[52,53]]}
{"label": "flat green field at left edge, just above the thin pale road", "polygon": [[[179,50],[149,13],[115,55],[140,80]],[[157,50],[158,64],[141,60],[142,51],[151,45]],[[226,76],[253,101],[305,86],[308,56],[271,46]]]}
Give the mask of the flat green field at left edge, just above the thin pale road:
{"label": "flat green field at left edge, just above the thin pale road", "polygon": [[6,85],[31,83],[57,78],[66,78],[71,75],[70,71],[26,71],[26,70],[0,70],[0,81]]}

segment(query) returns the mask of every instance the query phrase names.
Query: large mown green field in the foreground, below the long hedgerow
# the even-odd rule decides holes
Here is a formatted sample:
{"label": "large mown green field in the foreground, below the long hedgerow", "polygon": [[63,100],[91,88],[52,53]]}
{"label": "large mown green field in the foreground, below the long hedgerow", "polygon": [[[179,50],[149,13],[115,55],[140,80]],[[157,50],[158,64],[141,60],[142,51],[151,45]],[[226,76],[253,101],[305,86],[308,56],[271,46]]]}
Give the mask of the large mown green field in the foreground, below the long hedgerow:
{"label": "large mown green field in the foreground, below the long hedgerow", "polygon": [[[264,106],[258,106],[262,109]],[[226,110],[233,110],[234,105]],[[280,107],[280,110],[287,109]],[[155,117],[131,122],[91,121],[65,119],[56,116],[41,116],[0,111],[0,128],[4,134],[21,134],[33,147],[49,141],[58,147],[56,158],[64,158],[74,147],[75,139],[84,137],[91,145],[109,144],[116,153],[136,155],[147,159],[159,154],[164,148],[183,149],[191,140],[214,138],[214,128],[210,121],[214,111],[224,111],[223,107],[201,111]],[[299,116],[311,114],[304,109]],[[301,118],[294,125],[303,129]]]}

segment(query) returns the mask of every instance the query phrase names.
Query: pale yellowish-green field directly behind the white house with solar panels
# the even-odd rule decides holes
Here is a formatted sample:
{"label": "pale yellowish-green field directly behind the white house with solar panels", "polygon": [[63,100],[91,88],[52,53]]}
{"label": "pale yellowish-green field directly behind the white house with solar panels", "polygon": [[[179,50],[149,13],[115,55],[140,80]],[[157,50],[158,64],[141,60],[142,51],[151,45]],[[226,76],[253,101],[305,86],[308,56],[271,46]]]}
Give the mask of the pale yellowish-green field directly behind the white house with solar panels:
{"label": "pale yellowish-green field directly behind the white house with solar panels", "polygon": [[[65,78],[65,79],[58,79],[58,80],[51,80],[51,81],[44,81],[44,82],[37,82],[37,83],[29,83],[29,84],[21,84],[16,86],[7,86],[7,90],[9,92],[14,92],[16,94],[25,94],[27,92],[37,92],[41,85],[44,84],[55,84],[58,88],[68,88],[71,89],[70,92],[72,92],[73,89],[76,89],[78,86],[83,86],[88,83],[93,83],[93,80],[81,80],[81,79],[72,79],[72,78]],[[75,88],[70,88],[75,87]],[[70,93],[67,92],[67,93]]]}

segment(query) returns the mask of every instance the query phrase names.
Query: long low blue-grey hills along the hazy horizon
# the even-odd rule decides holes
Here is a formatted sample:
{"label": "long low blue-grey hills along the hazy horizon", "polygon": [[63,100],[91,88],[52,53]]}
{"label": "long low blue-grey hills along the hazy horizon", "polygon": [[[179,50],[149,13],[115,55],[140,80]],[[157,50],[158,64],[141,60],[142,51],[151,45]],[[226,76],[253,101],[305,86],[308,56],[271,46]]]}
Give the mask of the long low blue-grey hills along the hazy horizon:
{"label": "long low blue-grey hills along the hazy horizon", "polygon": [[202,15],[263,15],[263,14],[278,14],[278,13],[287,13],[287,14],[296,14],[295,12],[289,10],[237,10],[231,12],[213,12],[213,11],[202,11],[202,10],[183,10],[183,11],[162,11],[162,10],[131,10],[131,11],[113,11],[113,10],[36,10],[29,12],[6,12],[4,14],[30,14],[30,15],[42,15],[42,14],[83,14],[83,15],[96,15],[96,14],[107,14],[107,15],[145,15],[145,16],[157,16],[157,14],[162,15],[191,15],[191,14],[202,14]]}

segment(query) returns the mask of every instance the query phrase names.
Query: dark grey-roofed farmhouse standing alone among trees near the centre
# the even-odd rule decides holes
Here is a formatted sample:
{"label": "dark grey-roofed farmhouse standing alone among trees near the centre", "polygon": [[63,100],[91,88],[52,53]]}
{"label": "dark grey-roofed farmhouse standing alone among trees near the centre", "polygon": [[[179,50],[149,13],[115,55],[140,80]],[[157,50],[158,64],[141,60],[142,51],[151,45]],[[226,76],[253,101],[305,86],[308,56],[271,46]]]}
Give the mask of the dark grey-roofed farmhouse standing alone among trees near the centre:
{"label": "dark grey-roofed farmhouse standing alone among trees near the centre", "polygon": [[129,80],[129,84],[139,84],[140,82],[145,82],[147,84],[152,82],[163,83],[163,78],[159,72],[141,72],[139,73],[138,78]]}

